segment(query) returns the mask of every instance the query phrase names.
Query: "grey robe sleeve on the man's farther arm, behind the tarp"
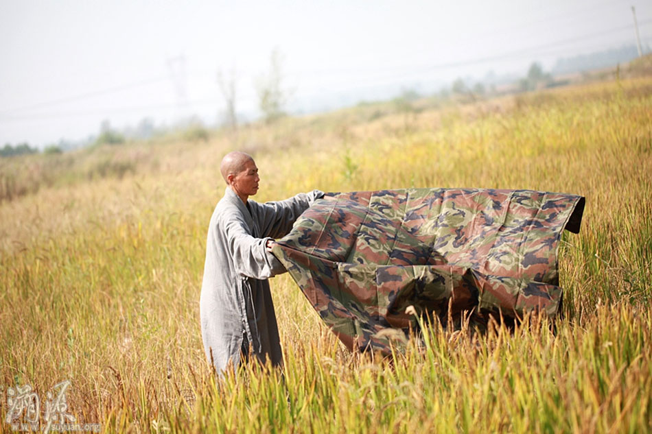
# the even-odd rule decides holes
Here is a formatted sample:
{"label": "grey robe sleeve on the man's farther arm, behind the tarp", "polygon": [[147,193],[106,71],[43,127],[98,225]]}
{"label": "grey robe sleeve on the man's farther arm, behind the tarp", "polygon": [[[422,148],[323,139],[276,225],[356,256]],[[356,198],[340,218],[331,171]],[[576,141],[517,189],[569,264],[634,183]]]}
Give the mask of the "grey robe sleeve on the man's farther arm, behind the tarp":
{"label": "grey robe sleeve on the man's farther arm, behind the tarp", "polygon": [[292,230],[292,224],[297,217],[310,208],[315,200],[323,196],[323,191],[313,190],[310,193],[299,193],[286,200],[257,204],[262,236],[272,238],[286,236]]}

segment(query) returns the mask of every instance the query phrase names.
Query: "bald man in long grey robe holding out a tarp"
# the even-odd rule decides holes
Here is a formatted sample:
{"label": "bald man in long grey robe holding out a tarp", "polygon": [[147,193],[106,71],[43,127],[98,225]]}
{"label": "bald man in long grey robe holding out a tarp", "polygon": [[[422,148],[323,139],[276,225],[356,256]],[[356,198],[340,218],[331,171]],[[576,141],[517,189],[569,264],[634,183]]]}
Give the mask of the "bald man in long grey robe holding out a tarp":
{"label": "bald man in long grey robe holding out a tarp", "polygon": [[224,374],[248,350],[263,363],[282,361],[279,330],[268,278],[286,271],[269,251],[273,239],[290,232],[296,217],[323,192],[299,193],[280,202],[259,204],[258,167],[244,152],[224,156],[226,182],[208,230],[200,298],[202,340],[209,363]]}

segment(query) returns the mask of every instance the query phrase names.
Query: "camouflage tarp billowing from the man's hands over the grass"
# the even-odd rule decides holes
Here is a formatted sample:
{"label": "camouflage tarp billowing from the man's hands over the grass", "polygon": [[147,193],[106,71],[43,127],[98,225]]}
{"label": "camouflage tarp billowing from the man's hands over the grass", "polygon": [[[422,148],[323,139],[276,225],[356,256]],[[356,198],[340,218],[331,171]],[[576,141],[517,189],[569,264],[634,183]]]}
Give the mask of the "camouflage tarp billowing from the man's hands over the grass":
{"label": "camouflage tarp billowing from the man's hands over the grass", "polygon": [[[584,198],[489,189],[331,193],[273,248],[350,350],[389,351],[415,316],[518,317],[561,306],[557,250]],[[450,311],[449,311],[450,306]],[[408,309],[408,312],[411,309]],[[402,335],[402,333],[401,333]]]}

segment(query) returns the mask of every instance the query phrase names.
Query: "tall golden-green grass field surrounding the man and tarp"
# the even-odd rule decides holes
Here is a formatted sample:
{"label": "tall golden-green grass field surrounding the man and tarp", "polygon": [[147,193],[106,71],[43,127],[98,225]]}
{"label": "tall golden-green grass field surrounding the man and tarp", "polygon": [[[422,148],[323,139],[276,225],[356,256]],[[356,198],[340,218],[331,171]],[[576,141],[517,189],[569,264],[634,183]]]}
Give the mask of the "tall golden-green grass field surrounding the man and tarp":
{"label": "tall golden-green grass field surrounding the man and tarp", "polygon": [[[2,202],[0,431],[8,387],[43,398],[64,379],[69,411],[106,432],[652,431],[652,80],[424,110],[409,126],[349,109],[95,149]],[[255,155],[261,201],[406,186],[585,195],[581,233],[561,243],[557,332],[539,317],[484,336],[433,324],[393,358],[349,354],[286,274],[272,279],[282,373],[252,363],[216,380],[198,300],[234,147]],[[102,160],[132,170],[80,175]],[[3,174],[32,160],[12,161]]]}

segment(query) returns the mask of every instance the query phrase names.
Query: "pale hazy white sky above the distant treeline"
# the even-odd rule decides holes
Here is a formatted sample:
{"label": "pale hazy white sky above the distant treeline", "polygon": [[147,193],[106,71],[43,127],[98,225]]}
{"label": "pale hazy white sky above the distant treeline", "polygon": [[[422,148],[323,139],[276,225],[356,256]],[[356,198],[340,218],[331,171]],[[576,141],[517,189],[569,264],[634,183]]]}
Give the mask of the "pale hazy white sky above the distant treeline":
{"label": "pale hazy white sky above the distant treeline", "polygon": [[[455,4],[453,4],[455,3]],[[157,124],[224,104],[216,73],[237,71],[237,108],[282,53],[295,110],[365,88],[526,73],[554,60],[652,43],[652,2],[0,0],[0,146]]]}

